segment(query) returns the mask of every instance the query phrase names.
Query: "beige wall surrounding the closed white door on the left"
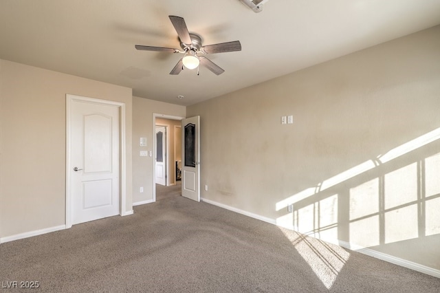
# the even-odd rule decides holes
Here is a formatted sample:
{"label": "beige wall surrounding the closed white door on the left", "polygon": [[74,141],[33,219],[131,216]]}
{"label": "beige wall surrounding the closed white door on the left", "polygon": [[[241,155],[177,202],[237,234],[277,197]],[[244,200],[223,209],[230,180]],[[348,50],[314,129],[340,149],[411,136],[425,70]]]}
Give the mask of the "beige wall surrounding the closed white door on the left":
{"label": "beige wall surrounding the closed white door on the left", "polygon": [[0,60],[0,237],[65,224],[66,94],[126,104],[131,210],[131,89]]}

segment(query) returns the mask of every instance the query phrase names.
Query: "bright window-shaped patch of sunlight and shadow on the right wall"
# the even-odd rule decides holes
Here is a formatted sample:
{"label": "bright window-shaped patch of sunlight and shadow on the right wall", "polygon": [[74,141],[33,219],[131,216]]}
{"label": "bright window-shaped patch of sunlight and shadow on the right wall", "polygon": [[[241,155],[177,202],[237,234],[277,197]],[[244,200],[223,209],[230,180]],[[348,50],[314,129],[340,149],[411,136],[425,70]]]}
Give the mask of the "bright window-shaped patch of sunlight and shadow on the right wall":
{"label": "bright window-shaped patch of sunlight and shadow on the right wall", "polygon": [[277,211],[286,212],[277,224],[418,263],[406,257],[417,249],[416,257],[424,254],[430,262],[423,265],[437,268],[439,149],[440,128],[276,203]]}

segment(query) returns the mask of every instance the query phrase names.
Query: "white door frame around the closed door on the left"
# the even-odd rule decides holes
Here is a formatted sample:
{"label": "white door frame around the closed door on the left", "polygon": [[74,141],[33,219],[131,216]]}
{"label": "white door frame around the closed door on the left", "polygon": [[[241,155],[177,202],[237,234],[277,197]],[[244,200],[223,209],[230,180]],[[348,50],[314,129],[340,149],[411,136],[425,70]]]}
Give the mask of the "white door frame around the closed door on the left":
{"label": "white door frame around the closed door on the left", "polygon": [[125,103],[124,102],[115,102],[112,100],[101,100],[97,98],[87,98],[84,96],[75,96],[71,94],[66,94],[66,228],[72,228],[72,194],[70,192],[71,189],[71,177],[72,177],[72,162],[71,158],[71,114],[70,111],[72,109],[72,102],[89,102],[98,105],[112,105],[115,107],[119,107],[120,111],[120,193],[119,193],[119,215],[131,215],[133,212],[126,212],[126,129],[125,129]]}

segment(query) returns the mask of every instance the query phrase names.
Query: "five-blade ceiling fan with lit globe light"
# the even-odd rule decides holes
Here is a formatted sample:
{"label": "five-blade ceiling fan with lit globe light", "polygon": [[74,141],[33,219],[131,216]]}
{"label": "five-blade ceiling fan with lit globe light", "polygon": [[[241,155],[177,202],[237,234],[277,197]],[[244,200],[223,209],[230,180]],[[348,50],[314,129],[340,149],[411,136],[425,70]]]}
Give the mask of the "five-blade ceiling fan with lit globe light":
{"label": "five-blade ceiling fan with lit globe light", "polygon": [[175,17],[173,15],[170,15],[169,17],[171,23],[173,23],[177,35],[179,36],[180,47],[182,50],[168,48],[168,47],[152,47],[152,46],[144,46],[144,45],[135,45],[135,48],[137,50],[185,54],[175,65],[173,70],[171,70],[170,74],[177,75],[184,69],[184,67],[186,67],[188,69],[197,68],[197,75],[199,75],[199,65],[203,65],[204,67],[208,68],[211,72],[214,72],[214,74],[219,75],[225,71],[221,69],[219,65],[213,63],[205,56],[199,56],[199,55],[241,51],[240,41],[203,46],[201,45],[201,36],[192,32],[188,32],[188,28],[186,28],[185,20],[182,17]]}

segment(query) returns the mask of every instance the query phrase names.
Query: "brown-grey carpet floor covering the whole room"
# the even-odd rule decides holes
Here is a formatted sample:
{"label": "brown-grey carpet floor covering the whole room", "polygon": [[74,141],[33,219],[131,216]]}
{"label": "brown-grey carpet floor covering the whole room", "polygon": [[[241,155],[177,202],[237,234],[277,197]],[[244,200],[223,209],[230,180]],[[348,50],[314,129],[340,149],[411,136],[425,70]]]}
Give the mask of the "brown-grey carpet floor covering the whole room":
{"label": "brown-grey carpet floor covering the whole room", "polygon": [[157,186],[157,201],[0,245],[0,292],[440,292],[440,279]]}

